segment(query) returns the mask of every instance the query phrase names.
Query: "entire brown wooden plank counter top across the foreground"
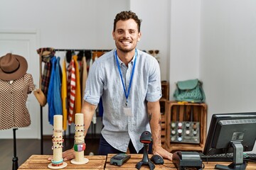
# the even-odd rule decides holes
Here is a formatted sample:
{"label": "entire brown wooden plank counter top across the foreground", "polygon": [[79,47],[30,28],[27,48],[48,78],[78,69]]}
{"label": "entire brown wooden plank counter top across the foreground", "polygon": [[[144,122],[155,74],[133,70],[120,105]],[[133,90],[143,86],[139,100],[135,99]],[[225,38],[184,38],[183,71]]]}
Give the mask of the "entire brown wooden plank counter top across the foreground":
{"label": "entire brown wooden plank counter top across the foreground", "polygon": [[[87,159],[89,159],[89,162],[87,164],[82,165],[75,165],[71,164],[70,161],[66,161],[68,166],[65,167],[65,169],[92,169],[92,170],[117,170],[117,169],[136,169],[136,164],[140,161],[142,161],[143,154],[130,154],[131,159],[129,159],[125,164],[122,166],[114,166],[110,164],[110,158],[114,156],[114,154],[108,154],[106,156],[102,155],[94,155],[94,156],[85,156]],[[149,154],[149,158],[151,158],[151,154]],[[52,157],[50,155],[32,155],[31,157],[26,160],[21,166],[18,167],[18,170],[28,170],[28,169],[38,169],[38,170],[45,170],[48,169],[48,164],[50,164],[50,161],[48,161],[48,157]],[[215,167],[215,164],[223,164],[223,165],[229,165],[231,162],[203,162],[205,165],[204,169],[211,169],[213,170]],[[142,170],[149,169],[148,165],[142,165]],[[169,161],[168,159],[164,159],[164,164],[158,164],[155,165],[154,170],[159,169],[176,169],[174,164]],[[248,162],[247,168],[250,170],[256,170],[256,162]]]}

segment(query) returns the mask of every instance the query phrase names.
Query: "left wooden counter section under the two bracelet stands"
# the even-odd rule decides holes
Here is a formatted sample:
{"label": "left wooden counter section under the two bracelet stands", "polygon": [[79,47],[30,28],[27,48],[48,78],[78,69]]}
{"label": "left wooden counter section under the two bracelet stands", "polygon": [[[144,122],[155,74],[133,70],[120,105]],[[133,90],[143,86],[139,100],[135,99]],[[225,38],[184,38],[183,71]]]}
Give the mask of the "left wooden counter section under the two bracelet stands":
{"label": "left wooden counter section under the two bracelet stands", "polygon": [[[50,155],[35,155],[33,154],[31,157],[26,160],[21,166],[18,167],[18,170],[28,170],[28,169],[48,169],[48,157],[52,157]],[[106,156],[85,156],[89,159],[87,164],[75,165],[71,164],[70,161],[66,161],[68,166],[65,169],[92,169],[92,170],[102,170],[104,169]]]}

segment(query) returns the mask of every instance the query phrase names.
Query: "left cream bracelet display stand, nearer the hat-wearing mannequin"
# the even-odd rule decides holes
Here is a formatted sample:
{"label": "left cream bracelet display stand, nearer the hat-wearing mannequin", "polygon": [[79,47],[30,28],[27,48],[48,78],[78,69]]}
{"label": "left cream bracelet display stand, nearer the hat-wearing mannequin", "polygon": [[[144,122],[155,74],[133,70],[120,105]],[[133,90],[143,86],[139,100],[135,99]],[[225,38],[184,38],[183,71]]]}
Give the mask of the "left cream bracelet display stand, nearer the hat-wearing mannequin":
{"label": "left cream bracelet display stand, nearer the hat-wearing mannequin", "polygon": [[54,115],[53,117],[53,159],[48,164],[50,169],[63,169],[68,164],[63,161],[63,116]]}

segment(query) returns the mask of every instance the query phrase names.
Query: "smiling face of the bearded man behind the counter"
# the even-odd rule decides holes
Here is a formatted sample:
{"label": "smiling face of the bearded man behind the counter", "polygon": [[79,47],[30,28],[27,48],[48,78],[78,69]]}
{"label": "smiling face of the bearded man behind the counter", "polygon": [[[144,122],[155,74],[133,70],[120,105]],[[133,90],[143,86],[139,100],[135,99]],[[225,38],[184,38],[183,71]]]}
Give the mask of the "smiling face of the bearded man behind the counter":
{"label": "smiling face of the bearded man behind the counter", "polygon": [[141,37],[137,23],[133,19],[117,21],[116,30],[113,31],[112,35],[117,49],[122,52],[134,50]]}

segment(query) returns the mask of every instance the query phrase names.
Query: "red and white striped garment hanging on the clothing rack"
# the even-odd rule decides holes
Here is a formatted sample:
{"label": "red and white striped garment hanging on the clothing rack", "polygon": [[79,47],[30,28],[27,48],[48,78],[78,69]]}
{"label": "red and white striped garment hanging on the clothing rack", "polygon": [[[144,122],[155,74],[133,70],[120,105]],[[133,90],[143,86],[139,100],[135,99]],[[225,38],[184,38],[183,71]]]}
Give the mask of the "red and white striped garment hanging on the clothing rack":
{"label": "red and white striped garment hanging on the clothing rack", "polygon": [[73,113],[75,106],[75,63],[70,61],[68,67],[68,125],[73,123]]}

